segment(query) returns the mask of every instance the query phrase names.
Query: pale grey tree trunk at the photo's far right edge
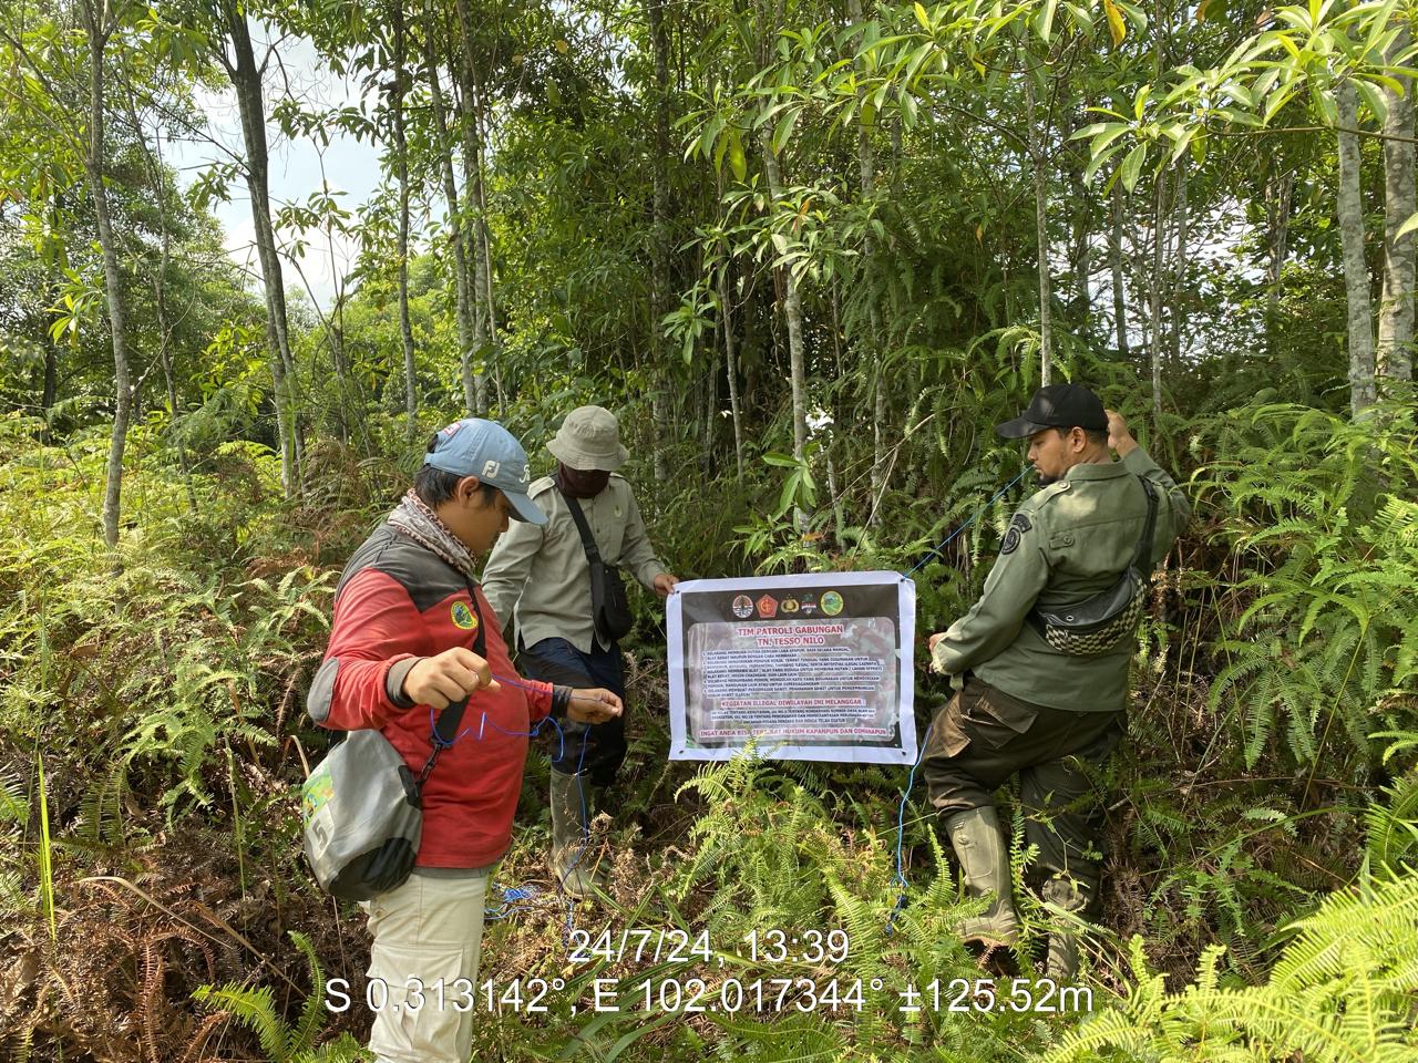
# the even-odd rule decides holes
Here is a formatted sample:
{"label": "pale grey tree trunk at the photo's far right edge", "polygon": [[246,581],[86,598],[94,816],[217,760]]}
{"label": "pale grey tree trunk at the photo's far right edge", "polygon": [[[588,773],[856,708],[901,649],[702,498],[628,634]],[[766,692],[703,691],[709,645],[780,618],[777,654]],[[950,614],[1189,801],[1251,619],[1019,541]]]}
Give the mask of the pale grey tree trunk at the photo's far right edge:
{"label": "pale grey tree trunk at the photo's far right edge", "polygon": [[[1387,62],[1412,40],[1404,26],[1394,40]],[[1400,91],[1384,89],[1384,300],[1378,306],[1377,374],[1390,380],[1412,380],[1414,339],[1414,234],[1398,237],[1398,228],[1414,214],[1414,102],[1412,78],[1391,75]]]}

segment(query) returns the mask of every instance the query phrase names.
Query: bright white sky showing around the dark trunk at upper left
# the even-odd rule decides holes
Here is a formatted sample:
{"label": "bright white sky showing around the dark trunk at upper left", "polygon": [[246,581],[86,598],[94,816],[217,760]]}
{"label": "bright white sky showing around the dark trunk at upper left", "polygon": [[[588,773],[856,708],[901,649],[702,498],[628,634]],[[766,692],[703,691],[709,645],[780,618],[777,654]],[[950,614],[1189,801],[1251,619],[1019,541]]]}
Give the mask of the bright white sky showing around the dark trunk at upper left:
{"label": "bright white sky showing around the dark trunk at upper left", "polygon": [[[252,24],[252,44],[257,48],[258,64],[272,40],[271,31]],[[271,61],[272,72],[267,77],[267,111],[279,98],[274,89],[284,91],[286,84],[289,84],[292,95],[308,109],[360,103],[359,85],[323,69],[309,41],[294,37],[281,38],[279,64],[284,68],[284,77],[277,69],[277,61]],[[372,103],[373,98],[370,96],[366,108]],[[216,143],[194,139],[173,140],[164,146],[167,162],[177,167],[187,184],[214,163],[228,162],[233,154],[241,157],[245,153],[235,94],[230,88],[224,92],[203,92],[199,105],[207,115],[208,135]],[[379,153],[367,140],[360,143],[345,133],[335,133],[323,150],[322,160],[322,153],[312,140],[288,140],[272,122],[267,122],[267,137],[271,156],[272,211],[278,211],[288,203],[303,203],[328,183],[332,191],[340,193],[340,206],[353,214],[379,184]],[[255,225],[251,221],[251,198],[240,179],[231,181],[228,191],[230,201],[213,204],[211,211],[225,232],[227,254],[248,272],[252,288],[257,288],[259,285],[259,264],[255,249]],[[289,232],[278,234],[278,240],[291,235]],[[308,293],[323,308],[333,300],[336,274],[345,274],[353,266],[357,248],[353,241],[336,235],[332,264],[332,247],[322,232],[308,232],[305,240],[308,247],[299,261],[299,271],[288,255],[284,257],[285,286],[288,292],[292,289],[306,291],[308,283]],[[301,272],[305,275],[303,281]]]}

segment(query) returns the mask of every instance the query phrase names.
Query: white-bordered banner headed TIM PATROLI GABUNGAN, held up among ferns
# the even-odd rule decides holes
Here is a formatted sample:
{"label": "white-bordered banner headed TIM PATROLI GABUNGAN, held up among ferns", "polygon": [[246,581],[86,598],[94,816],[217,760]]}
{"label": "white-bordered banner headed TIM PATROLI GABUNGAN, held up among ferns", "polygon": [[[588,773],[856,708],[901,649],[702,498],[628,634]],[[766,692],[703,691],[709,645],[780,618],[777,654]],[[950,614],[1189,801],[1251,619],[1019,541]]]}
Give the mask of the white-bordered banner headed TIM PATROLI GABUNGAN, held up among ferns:
{"label": "white-bordered banner headed TIM PATROLI GABUNGAN, held up among ferns", "polygon": [[915,764],[916,584],[899,573],[681,583],[669,758]]}

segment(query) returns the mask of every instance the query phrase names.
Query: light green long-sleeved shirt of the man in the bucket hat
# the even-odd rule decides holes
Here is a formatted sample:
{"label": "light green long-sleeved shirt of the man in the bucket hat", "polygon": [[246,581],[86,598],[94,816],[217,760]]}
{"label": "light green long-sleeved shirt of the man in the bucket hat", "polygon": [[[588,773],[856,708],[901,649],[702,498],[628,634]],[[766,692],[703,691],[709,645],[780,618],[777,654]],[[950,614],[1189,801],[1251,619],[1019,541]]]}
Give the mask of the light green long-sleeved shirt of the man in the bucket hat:
{"label": "light green long-sleeved shirt of the man in the bucket hat", "polygon": [[[506,626],[509,617],[516,621],[523,645],[562,638],[590,653],[598,641],[591,621],[591,564],[576,520],[550,476],[533,483],[527,495],[547,523],[537,527],[513,520],[508,526],[482,573],[482,592],[499,625]],[[665,566],[649,544],[630,483],[613,472],[605,490],[580,503],[601,560],[621,566],[654,590]]]}

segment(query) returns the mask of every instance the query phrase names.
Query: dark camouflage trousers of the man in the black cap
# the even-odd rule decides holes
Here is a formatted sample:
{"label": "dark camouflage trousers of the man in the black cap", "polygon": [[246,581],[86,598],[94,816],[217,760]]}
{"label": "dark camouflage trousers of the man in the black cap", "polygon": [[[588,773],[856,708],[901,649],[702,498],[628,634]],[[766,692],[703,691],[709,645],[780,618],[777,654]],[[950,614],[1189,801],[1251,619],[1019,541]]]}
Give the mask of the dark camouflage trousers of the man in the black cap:
{"label": "dark camouflage trousers of the man in the black cap", "polygon": [[1020,777],[1025,845],[1035,869],[1068,876],[1096,896],[1102,867],[1102,795],[1085,768],[1100,767],[1123,736],[1126,713],[1073,713],[1021,702],[970,677],[936,713],[922,760],[926,792],[943,822],[994,805]]}

